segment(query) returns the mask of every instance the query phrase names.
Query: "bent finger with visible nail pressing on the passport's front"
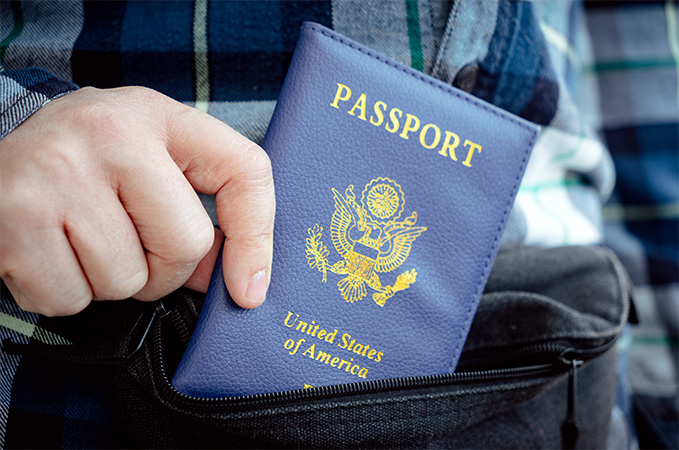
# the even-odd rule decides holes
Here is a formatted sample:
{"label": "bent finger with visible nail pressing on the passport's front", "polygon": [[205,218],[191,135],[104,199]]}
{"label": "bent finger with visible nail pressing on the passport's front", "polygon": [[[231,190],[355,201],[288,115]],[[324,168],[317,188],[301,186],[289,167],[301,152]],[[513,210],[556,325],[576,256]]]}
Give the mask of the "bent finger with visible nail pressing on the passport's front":
{"label": "bent finger with visible nail pressing on the passport's front", "polygon": [[226,287],[238,305],[255,308],[271,276],[276,206],[269,157],[223,122],[169,101],[168,152],[194,189],[216,194]]}

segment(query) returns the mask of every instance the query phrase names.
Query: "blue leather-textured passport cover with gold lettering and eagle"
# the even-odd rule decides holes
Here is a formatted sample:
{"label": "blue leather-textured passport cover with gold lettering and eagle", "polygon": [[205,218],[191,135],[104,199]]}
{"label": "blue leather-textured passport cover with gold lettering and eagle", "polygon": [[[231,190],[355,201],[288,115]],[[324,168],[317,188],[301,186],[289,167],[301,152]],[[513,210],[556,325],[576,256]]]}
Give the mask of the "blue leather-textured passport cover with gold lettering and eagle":
{"label": "blue leather-textured passport cover with gold lettering and eagle", "polygon": [[173,384],[226,397],[455,369],[537,128],[314,23],[262,146],[267,300],[215,267]]}

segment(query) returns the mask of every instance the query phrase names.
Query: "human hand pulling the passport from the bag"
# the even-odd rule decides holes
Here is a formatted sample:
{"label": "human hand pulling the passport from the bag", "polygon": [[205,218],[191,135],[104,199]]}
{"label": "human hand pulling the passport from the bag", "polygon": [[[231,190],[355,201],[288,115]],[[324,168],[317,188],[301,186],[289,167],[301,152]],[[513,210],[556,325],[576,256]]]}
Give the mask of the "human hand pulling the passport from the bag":
{"label": "human hand pulling the passport from the bag", "polygon": [[234,301],[269,283],[268,156],[223,122],[153,90],[83,88],[0,140],[0,276],[19,305],[70,315],[93,299],[205,292],[223,235]]}

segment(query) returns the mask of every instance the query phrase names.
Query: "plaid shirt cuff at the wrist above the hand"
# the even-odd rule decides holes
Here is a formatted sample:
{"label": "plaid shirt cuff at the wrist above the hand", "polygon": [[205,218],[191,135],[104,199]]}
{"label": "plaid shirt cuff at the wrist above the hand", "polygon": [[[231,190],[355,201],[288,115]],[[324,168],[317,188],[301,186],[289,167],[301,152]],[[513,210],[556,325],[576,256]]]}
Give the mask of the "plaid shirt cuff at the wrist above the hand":
{"label": "plaid shirt cuff at the wrist above the hand", "polygon": [[77,89],[38,67],[0,72],[0,139],[45,103]]}

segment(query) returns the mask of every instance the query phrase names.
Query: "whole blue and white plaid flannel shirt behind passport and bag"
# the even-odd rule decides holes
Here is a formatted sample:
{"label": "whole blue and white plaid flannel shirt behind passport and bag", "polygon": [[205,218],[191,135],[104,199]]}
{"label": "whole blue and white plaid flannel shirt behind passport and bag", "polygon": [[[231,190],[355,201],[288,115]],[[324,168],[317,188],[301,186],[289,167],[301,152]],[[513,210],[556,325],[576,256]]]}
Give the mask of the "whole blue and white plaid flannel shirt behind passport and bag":
{"label": "whole blue and white plaid flannel shirt behind passport and bag", "polygon": [[[0,137],[78,86],[143,85],[259,142],[304,20],[463,87],[542,126],[503,245],[605,241],[628,264],[644,323],[625,341],[638,423],[676,446],[676,16],[672,2],[11,0],[0,4]],[[78,342],[78,316],[21,312],[3,286],[0,338]],[[4,353],[0,364],[0,446],[115,445],[105,371]],[[664,422],[644,410],[653,402]]]}

